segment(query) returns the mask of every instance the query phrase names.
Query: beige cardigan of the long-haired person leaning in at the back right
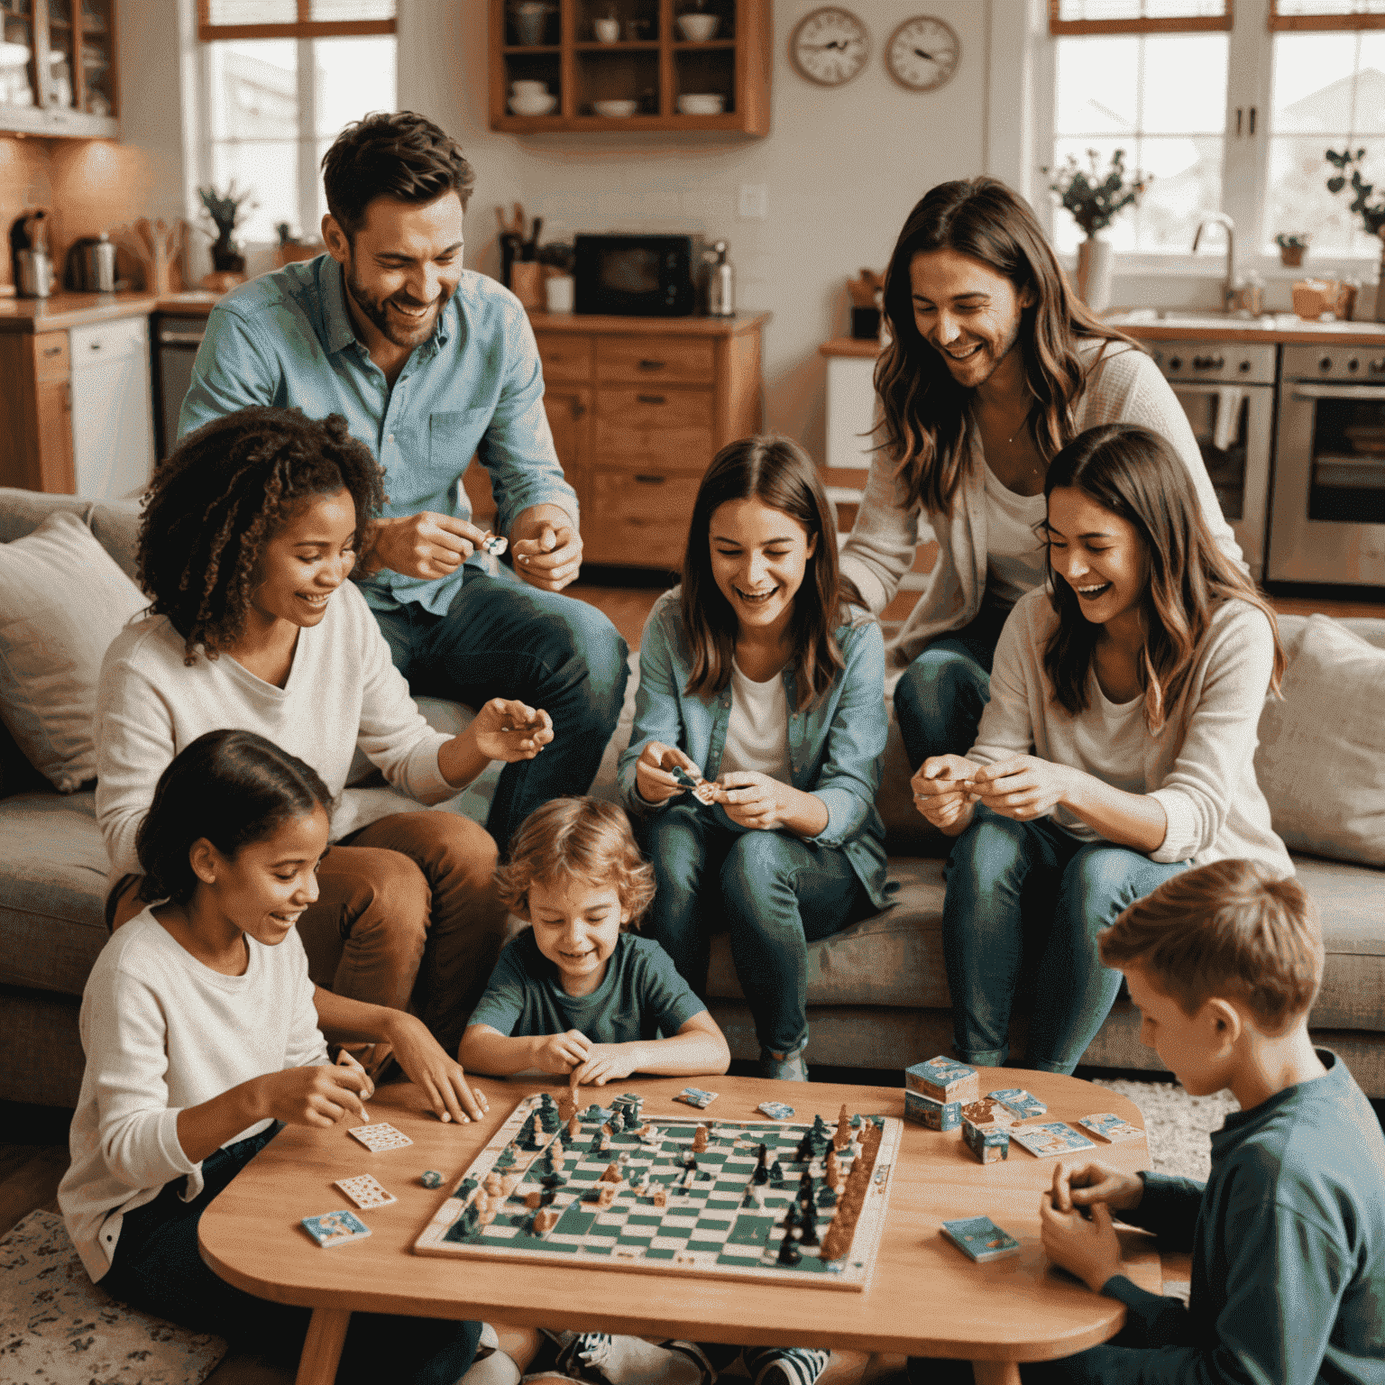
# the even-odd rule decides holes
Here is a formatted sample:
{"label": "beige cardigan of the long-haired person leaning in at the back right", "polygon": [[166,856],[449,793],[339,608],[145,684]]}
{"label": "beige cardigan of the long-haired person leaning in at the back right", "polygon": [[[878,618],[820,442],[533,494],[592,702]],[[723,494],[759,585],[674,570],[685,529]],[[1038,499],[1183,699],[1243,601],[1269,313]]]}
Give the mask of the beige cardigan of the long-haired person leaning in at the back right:
{"label": "beige cardigan of the long-haired person leaning in at the back right", "polygon": [[[1104,345],[1105,355],[1097,361]],[[1245,560],[1222,515],[1198,440],[1159,367],[1125,342],[1089,341],[1082,343],[1080,353],[1090,375],[1075,410],[1076,432],[1097,424],[1137,424],[1159,434],[1188,468],[1202,518],[1217,547],[1244,568]],[[979,429],[968,428],[963,446],[970,453],[950,517],[931,514],[922,504],[906,507],[895,481],[896,464],[884,452],[874,453],[856,524],[842,548],[842,575],[856,583],[866,604],[879,615],[913,566],[914,548],[928,539],[938,540],[928,586],[889,643],[888,652],[897,666],[917,659],[946,632],[975,620],[986,596],[986,460]]]}

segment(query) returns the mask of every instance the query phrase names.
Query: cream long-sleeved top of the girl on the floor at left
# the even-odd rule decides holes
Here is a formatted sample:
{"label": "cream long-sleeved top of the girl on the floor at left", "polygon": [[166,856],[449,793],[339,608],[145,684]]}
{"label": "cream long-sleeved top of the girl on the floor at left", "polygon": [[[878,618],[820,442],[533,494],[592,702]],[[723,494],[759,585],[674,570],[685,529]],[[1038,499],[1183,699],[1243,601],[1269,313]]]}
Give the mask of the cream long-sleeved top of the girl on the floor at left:
{"label": "cream long-sleeved top of the girl on the floor at left", "polygon": [[245,974],[224,976],[145,909],[101,949],[87,976],[87,1061],[58,1205],[93,1280],[111,1267],[126,1212],[152,1202],[172,1179],[187,1177],[184,1201],[201,1192],[202,1165],[179,1144],[180,1111],[252,1078],[327,1062],[296,931],[276,947],[253,938],[245,947]]}

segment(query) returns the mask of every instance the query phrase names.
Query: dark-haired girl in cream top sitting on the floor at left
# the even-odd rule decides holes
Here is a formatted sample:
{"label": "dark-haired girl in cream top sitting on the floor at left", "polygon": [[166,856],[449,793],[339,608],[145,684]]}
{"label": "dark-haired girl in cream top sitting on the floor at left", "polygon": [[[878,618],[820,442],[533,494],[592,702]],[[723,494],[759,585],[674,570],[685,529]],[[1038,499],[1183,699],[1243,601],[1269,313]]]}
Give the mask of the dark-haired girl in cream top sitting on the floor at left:
{"label": "dark-haired girl in cream top sitting on the floor at left", "polygon": [[[332,1066],[319,1025],[400,1048],[421,1021],[314,988],[295,924],[317,897],[331,794],[253,731],[212,731],[159,777],[136,850],[150,897],[82,994],[86,1072],[58,1204],[115,1298],[296,1359],[310,1310],[233,1288],[198,1253],[202,1212],[280,1122],[364,1115],[370,1079]],[[468,1101],[471,1100],[468,1094]],[[352,1378],[465,1374],[479,1323],[355,1314]]]}

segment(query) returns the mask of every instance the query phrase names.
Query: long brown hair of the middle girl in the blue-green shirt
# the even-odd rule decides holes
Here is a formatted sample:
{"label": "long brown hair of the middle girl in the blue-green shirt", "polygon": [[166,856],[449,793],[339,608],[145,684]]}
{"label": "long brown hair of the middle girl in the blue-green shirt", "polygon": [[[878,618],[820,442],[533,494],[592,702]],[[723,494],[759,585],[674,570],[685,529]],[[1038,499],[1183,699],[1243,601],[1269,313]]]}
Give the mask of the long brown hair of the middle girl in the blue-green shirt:
{"label": "long brown hair of the middle girl in the blue-green shirt", "polygon": [[796,663],[798,711],[832,686],[846,668],[834,630],[849,623],[850,607],[864,602],[837,565],[837,517],[817,467],[796,442],[773,435],[741,438],[713,458],[698,486],[683,558],[683,634],[692,654],[686,691],[711,697],[731,681],[738,622],[712,572],[712,515],[729,500],[759,500],[781,510],[817,540],[802,586],[794,597],[789,633]]}

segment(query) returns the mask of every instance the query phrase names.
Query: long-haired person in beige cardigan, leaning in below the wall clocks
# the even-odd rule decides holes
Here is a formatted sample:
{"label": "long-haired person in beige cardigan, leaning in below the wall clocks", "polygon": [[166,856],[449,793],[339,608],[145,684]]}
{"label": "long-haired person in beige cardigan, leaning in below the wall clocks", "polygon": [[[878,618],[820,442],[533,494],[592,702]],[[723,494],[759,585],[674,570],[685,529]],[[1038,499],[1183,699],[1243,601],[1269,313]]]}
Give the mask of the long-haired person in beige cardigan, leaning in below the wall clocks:
{"label": "long-haired person in beige cardigan, leaning in below the wall clocks", "polygon": [[1197,439],[1154,361],[1072,295],[1033,211],[990,177],[940,183],[909,215],[885,273],[891,342],[875,367],[877,449],[842,572],[875,612],[914,550],[928,589],[891,654],[910,765],[975,740],[1006,616],[1044,580],[1044,471],[1084,428],[1161,434],[1216,544],[1241,561]]}

